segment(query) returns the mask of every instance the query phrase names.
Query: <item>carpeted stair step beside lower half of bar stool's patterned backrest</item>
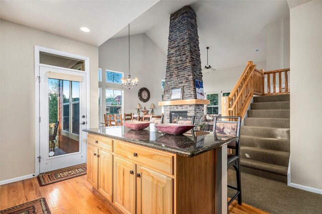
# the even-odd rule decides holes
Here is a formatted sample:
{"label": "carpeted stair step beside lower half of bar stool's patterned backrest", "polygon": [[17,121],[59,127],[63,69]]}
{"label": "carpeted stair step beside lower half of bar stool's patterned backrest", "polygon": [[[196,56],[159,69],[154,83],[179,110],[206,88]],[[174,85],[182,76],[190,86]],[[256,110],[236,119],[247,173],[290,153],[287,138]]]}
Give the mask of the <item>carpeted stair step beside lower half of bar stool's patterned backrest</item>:
{"label": "carpeted stair step beside lower half of bar stool's patterned backrest", "polygon": [[240,134],[266,138],[290,139],[290,129],[284,128],[242,126],[240,128]]}

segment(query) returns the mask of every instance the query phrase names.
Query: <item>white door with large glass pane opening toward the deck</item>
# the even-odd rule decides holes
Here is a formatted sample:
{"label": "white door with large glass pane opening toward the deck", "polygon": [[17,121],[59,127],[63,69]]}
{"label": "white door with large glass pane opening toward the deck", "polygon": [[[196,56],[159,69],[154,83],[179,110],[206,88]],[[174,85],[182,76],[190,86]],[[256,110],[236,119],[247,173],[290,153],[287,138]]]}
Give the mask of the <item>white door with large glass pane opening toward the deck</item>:
{"label": "white door with large glass pane opening toward the deck", "polygon": [[86,163],[86,73],[39,70],[40,173]]}

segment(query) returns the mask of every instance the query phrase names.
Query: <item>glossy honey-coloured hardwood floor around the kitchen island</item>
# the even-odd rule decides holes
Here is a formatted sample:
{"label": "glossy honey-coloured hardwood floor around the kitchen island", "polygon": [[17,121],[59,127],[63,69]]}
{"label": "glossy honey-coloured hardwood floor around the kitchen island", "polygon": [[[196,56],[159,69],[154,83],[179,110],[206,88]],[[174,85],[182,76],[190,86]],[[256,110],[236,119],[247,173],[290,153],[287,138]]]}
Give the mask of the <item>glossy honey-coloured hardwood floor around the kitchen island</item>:
{"label": "glossy honey-coloured hardwood floor around the kitchen island", "polygon": [[[118,213],[87,181],[86,175],[40,187],[37,178],[0,186],[0,210],[45,197],[52,213]],[[230,213],[266,213],[252,206],[229,206]]]}

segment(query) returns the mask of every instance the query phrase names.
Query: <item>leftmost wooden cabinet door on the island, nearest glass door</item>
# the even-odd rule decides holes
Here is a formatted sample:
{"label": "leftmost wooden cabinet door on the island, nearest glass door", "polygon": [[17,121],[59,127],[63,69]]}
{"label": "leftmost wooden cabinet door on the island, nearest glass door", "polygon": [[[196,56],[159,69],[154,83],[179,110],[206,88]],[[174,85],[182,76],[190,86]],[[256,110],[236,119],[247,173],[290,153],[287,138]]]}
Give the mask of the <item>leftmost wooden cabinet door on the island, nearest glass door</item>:
{"label": "leftmost wooden cabinet door on the island, nearest glass door", "polygon": [[99,150],[93,146],[87,145],[87,180],[94,186],[98,188],[98,154]]}

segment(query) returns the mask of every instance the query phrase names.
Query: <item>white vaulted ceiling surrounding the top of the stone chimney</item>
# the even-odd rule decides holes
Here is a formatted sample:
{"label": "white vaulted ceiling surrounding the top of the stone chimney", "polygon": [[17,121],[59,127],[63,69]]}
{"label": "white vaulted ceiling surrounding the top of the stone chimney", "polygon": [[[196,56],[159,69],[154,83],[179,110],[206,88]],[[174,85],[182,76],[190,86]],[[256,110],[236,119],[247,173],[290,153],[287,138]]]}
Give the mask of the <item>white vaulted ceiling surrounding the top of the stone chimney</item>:
{"label": "white vaulted ceiling surrounding the top of the stone chimney", "polygon": [[[100,46],[110,38],[145,33],[167,54],[170,15],[185,5],[197,13],[201,62],[216,69],[266,60],[265,26],[289,16],[286,1],[56,1],[1,0],[1,19]],[[80,27],[88,27],[84,33]],[[255,49],[260,52],[255,53]]]}

